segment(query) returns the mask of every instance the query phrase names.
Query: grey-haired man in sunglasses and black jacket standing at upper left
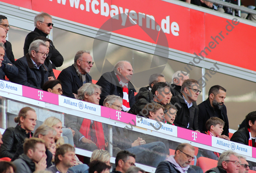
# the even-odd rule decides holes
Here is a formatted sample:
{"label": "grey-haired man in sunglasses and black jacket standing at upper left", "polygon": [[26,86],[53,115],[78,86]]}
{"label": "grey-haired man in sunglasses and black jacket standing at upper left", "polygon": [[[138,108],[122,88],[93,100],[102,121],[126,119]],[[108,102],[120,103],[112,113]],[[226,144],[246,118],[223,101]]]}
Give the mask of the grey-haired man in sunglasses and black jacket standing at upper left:
{"label": "grey-haired man in sunglasses and black jacket standing at upper left", "polygon": [[[46,12],[41,12],[40,14],[35,16],[34,18],[35,29],[34,31],[30,32],[25,38],[25,43],[23,47],[24,56],[28,54],[29,45],[33,42],[35,37],[38,37],[38,36],[46,37],[47,35],[50,34],[50,30],[53,29],[53,25],[54,25],[52,20],[53,20],[52,16],[50,16]],[[55,48],[53,41],[50,42],[49,54],[51,55],[50,61],[53,63],[53,69],[56,69],[56,67],[59,67],[62,65],[64,59],[60,54],[60,52]]]}

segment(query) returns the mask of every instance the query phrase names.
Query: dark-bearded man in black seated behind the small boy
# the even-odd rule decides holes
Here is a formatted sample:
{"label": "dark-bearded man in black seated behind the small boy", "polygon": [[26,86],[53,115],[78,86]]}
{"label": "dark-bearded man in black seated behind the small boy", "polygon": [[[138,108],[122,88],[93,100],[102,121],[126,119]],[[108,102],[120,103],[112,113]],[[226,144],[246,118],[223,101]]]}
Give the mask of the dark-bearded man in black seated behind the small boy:
{"label": "dark-bearded man in black seated behind the small boy", "polygon": [[198,105],[198,128],[201,132],[207,131],[206,122],[210,117],[221,118],[225,125],[223,127],[222,135],[220,136],[223,139],[228,138],[228,118],[227,118],[227,109],[224,105],[224,99],[226,98],[226,89],[220,85],[214,85],[210,88],[208,93],[208,99],[203,101]]}

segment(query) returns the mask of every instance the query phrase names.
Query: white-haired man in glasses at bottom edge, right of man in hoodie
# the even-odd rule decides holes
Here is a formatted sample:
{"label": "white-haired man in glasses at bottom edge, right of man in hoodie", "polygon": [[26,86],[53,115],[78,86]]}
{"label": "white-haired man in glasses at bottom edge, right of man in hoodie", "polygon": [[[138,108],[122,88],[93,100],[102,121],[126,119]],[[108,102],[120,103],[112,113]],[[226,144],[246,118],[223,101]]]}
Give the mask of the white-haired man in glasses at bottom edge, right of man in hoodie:
{"label": "white-haired man in glasses at bottom edge, right of man in hoodie", "polygon": [[241,163],[238,157],[239,155],[232,150],[224,151],[219,157],[217,167],[212,168],[205,173],[239,173],[239,167]]}

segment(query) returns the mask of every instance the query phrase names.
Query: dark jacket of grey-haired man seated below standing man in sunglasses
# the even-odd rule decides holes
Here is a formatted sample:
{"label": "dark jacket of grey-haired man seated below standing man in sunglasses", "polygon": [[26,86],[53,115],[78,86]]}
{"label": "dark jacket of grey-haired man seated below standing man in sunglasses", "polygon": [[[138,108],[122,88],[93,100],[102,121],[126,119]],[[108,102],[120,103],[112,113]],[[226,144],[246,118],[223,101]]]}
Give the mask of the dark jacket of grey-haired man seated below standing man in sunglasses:
{"label": "dark jacket of grey-haired man seated below standing man in sunglasses", "polygon": [[19,74],[14,78],[10,78],[11,82],[41,89],[44,83],[48,81],[48,68],[42,64],[37,69],[29,54],[18,59],[14,64],[19,69]]}

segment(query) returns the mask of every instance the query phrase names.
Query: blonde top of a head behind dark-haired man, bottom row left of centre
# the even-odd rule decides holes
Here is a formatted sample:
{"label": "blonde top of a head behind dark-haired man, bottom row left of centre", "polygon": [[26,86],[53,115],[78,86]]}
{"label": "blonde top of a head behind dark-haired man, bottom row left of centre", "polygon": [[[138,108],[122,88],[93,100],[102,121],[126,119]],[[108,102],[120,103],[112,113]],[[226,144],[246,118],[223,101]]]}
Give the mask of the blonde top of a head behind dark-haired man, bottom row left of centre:
{"label": "blonde top of a head behind dark-haired man, bottom row left of centre", "polygon": [[101,161],[106,163],[107,165],[110,165],[110,154],[106,150],[94,150],[93,154],[91,156],[90,162],[93,161]]}

